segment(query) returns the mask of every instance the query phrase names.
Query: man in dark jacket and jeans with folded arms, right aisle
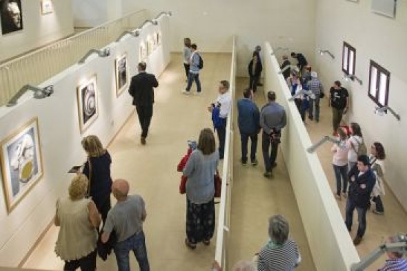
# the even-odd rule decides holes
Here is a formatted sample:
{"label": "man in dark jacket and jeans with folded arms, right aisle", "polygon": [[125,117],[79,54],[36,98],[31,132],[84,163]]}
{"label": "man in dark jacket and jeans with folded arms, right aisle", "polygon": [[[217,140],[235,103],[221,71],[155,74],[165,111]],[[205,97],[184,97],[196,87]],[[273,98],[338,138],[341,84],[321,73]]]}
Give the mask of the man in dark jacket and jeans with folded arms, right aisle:
{"label": "man in dark jacket and jeans with folded arms, right aisle", "polygon": [[349,178],[349,193],[346,201],[345,209],[345,224],[350,232],[352,228],[353,210],[357,210],[357,220],[359,227],[353,243],[359,245],[366,230],[366,211],[370,202],[370,194],[376,183],[376,177],[373,170],[370,168],[369,157],[360,155],[357,157],[357,164],[350,169]]}

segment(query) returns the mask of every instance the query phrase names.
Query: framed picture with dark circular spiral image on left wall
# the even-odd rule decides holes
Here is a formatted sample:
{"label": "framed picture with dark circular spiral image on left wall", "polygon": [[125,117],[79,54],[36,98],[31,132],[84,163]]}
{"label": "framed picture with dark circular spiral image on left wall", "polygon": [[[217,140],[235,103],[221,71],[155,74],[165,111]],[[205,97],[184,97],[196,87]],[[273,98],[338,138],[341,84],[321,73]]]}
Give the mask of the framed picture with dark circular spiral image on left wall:
{"label": "framed picture with dark circular spiral image on left wall", "polygon": [[77,94],[79,126],[83,133],[99,116],[96,74],[78,86]]}

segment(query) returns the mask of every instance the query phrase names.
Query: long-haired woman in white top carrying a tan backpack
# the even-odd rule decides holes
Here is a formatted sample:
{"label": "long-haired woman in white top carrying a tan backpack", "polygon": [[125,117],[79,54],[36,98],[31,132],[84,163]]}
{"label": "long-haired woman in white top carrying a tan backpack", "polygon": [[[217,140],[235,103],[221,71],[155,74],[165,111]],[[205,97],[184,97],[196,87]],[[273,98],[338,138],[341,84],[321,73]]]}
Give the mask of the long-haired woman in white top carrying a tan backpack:
{"label": "long-haired woman in white top carrying a tan backpack", "polygon": [[357,157],[360,155],[366,155],[366,145],[361,134],[361,128],[358,123],[350,123],[350,137],[346,141],[346,147],[348,152],[348,170],[352,170],[356,165]]}

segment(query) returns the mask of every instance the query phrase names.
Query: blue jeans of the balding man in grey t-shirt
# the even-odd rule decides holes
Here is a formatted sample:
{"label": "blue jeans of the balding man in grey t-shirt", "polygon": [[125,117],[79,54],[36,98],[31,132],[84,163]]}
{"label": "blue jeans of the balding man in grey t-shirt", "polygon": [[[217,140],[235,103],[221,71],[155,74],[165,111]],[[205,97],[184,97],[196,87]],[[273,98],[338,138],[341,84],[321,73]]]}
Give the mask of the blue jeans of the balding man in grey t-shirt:
{"label": "blue jeans of the balding man in grey t-shirt", "polygon": [[146,240],[144,232],[133,234],[128,239],[120,241],[115,245],[115,254],[119,271],[130,271],[130,261],[128,254],[133,251],[139,262],[140,271],[150,271],[148,263]]}

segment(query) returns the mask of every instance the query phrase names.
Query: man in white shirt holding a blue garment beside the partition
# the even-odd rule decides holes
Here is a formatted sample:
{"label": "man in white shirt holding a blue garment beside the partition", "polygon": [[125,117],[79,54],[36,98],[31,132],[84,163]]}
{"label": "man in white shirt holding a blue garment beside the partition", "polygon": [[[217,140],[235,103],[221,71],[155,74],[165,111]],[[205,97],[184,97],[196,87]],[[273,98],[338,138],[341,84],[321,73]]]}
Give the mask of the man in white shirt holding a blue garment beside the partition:
{"label": "man in white shirt holding a blue garment beside the partition", "polygon": [[226,123],[228,123],[231,103],[232,97],[229,92],[229,81],[222,80],[219,82],[217,100],[208,107],[208,111],[212,114],[213,126],[219,139],[219,159],[224,159]]}

